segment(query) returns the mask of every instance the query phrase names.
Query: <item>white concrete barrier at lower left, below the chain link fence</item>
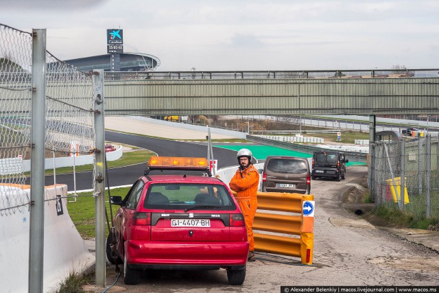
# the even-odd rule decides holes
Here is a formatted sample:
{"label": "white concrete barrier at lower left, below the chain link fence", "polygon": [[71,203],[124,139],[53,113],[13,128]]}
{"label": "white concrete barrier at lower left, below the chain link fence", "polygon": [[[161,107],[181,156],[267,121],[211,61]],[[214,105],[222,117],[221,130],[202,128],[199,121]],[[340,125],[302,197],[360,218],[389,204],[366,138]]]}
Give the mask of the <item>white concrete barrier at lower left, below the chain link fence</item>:
{"label": "white concrete barrier at lower left, below the chain link fence", "polygon": [[[28,202],[30,189],[19,195],[0,195],[0,200],[8,196],[23,196]],[[45,187],[45,199],[67,196],[67,185]],[[62,215],[57,213],[56,200],[45,202],[44,231],[44,292],[55,292],[60,282],[73,270],[82,272],[95,264],[95,256],[88,252],[80,234],[67,211],[67,199],[62,198]],[[75,204],[71,202],[69,204]],[[29,209],[21,207],[0,213],[0,292],[27,292],[29,270]]]}

